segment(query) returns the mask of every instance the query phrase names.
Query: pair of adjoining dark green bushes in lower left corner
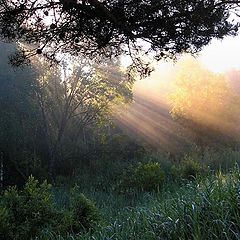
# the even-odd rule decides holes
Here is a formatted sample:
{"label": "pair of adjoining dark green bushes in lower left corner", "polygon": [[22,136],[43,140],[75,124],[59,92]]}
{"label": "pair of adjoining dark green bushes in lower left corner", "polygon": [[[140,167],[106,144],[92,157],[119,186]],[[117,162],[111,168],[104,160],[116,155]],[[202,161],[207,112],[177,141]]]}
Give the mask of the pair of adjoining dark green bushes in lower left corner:
{"label": "pair of adjoining dark green bushes in lower left corner", "polygon": [[97,207],[83,194],[74,196],[72,202],[58,210],[51,185],[39,184],[33,177],[21,191],[10,187],[0,196],[0,239],[30,240],[44,229],[62,235],[92,229],[100,219]]}

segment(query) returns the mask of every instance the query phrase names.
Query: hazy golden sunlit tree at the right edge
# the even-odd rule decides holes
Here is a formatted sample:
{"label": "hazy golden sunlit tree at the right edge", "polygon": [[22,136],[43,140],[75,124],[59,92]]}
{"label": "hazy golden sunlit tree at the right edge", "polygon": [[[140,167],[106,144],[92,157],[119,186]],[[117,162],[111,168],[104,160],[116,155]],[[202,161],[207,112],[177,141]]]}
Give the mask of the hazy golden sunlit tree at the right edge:
{"label": "hazy golden sunlit tree at the right edge", "polygon": [[200,147],[236,144],[239,138],[239,95],[223,75],[196,60],[183,61],[171,94],[172,117]]}

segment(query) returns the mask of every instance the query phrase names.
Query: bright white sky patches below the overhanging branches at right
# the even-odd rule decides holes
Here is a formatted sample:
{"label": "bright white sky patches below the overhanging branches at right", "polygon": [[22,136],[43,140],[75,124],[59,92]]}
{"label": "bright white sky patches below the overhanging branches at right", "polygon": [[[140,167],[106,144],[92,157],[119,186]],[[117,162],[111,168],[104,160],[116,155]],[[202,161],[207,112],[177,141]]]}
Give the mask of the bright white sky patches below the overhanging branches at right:
{"label": "bright white sky patches below the overhanging branches at right", "polygon": [[[223,40],[213,39],[198,54],[197,59],[215,73],[240,70],[240,35],[236,37],[228,36]],[[181,57],[179,60],[181,60]],[[129,64],[127,59],[125,59],[125,64]],[[168,85],[170,79],[174,78],[175,65],[176,63],[171,61],[158,62],[151,76],[148,79],[137,81],[134,90],[138,89],[143,94],[147,93],[149,95],[151,93],[151,95],[155,95],[154,91],[158,90],[156,85],[160,85],[159,88],[166,89],[163,84]]]}

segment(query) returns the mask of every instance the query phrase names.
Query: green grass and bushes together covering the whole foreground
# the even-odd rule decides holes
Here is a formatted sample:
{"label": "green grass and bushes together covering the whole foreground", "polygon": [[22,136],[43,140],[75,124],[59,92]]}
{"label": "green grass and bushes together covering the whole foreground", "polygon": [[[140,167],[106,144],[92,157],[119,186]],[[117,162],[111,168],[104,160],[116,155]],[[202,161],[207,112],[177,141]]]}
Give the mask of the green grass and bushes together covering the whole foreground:
{"label": "green grass and bushes together covering the whole foreground", "polygon": [[149,155],[125,170],[95,164],[74,189],[30,178],[1,195],[1,240],[240,239],[238,154],[207,154],[180,163]]}

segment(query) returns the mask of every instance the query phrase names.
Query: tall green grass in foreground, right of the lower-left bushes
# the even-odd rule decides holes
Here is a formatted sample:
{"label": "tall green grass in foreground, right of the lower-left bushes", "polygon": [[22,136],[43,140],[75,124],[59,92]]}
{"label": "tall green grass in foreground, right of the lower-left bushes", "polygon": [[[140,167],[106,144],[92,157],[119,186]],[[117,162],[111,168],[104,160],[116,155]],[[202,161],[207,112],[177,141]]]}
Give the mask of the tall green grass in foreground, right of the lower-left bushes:
{"label": "tall green grass in foreground, right of the lower-left bushes", "polygon": [[[90,194],[91,191],[89,191]],[[240,171],[218,172],[160,193],[93,191],[106,222],[95,232],[65,238],[46,230],[39,240],[240,239]]]}

